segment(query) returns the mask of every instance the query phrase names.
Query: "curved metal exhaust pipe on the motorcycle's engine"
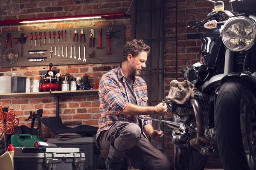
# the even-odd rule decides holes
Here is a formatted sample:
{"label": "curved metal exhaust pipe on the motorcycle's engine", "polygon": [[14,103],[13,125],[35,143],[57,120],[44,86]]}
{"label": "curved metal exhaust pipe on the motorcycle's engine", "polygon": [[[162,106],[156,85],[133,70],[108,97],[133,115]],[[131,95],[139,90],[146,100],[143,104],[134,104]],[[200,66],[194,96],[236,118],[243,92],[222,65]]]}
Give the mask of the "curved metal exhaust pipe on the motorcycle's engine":
{"label": "curved metal exhaust pipe on the motorcycle's engine", "polygon": [[201,147],[200,147],[201,142],[217,147],[217,142],[215,139],[210,139],[204,135],[204,119],[203,119],[200,103],[196,99],[190,99],[189,104],[192,105],[193,110],[195,112],[195,120],[196,120],[196,128],[197,128],[196,138],[190,140],[190,145],[195,149],[200,149],[200,150],[201,150]]}

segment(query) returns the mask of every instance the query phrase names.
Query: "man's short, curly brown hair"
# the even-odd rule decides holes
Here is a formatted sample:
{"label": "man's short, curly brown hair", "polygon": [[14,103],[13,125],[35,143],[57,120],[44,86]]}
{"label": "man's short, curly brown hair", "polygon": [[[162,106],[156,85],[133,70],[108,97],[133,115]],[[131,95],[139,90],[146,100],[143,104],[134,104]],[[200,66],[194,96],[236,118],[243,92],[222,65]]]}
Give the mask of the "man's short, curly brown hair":
{"label": "man's short, curly brown hair", "polygon": [[141,51],[145,51],[147,54],[150,51],[150,47],[146,45],[143,40],[131,40],[126,42],[121,53],[121,62],[126,61],[129,54],[136,57]]}

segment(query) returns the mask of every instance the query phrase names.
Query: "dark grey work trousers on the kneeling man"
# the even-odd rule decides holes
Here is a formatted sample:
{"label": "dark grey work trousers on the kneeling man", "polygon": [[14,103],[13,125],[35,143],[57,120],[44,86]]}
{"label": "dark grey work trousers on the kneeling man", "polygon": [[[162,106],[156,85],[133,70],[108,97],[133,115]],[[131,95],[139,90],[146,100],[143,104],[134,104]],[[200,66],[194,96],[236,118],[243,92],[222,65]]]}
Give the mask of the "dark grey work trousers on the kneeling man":
{"label": "dark grey work trousers on the kneeling man", "polygon": [[98,142],[115,163],[127,157],[130,165],[136,169],[173,170],[172,162],[141,134],[137,124],[116,122],[101,132]]}

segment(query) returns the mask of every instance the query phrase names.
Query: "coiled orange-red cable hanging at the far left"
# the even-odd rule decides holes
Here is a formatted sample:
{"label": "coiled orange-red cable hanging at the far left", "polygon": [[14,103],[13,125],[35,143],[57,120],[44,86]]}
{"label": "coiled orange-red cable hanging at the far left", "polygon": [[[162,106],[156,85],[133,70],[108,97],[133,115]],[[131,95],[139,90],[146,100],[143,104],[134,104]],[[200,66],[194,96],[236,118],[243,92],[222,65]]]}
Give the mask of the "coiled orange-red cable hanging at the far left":
{"label": "coiled orange-red cable hanging at the far left", "polygon": [[[15,112],[13,109],[10,109],[8,107],[8,112],[2,112],[3,108],[5,108],[4,105],[1,105],[0,107],[0,130],[4,131],[6,134],[12,134],[14,133],[14,129],[16,125],[20,123],[18,117],[15,115]],[[4,121],[6,120],[6,121]]]}

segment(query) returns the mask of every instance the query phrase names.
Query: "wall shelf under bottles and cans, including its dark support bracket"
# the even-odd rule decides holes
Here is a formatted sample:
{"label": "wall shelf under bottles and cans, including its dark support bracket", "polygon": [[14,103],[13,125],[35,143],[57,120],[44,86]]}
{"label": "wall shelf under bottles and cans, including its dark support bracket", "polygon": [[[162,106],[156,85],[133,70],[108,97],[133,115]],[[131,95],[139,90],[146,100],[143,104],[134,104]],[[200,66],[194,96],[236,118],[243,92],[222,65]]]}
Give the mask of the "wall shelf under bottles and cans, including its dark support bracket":
{"label": "wall shelf under bottles and cans, including its dark support bracket", "polygon": [[77,91],[47,91],[33,93],[3,93],[0,97],[26,97],[26,96],[52,96],[56,99],[56,116],[60,116],[60,98],[65,95],[80,95],[80,94],[98,94],[97,90],[77,90]]}

